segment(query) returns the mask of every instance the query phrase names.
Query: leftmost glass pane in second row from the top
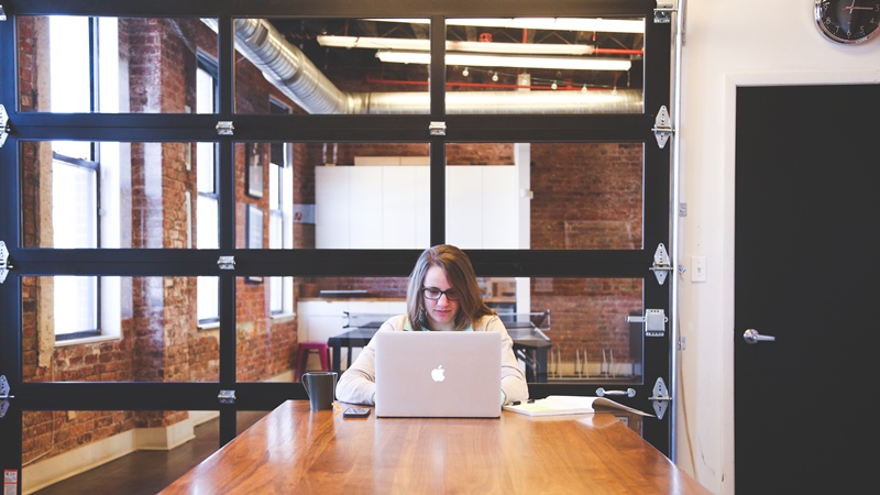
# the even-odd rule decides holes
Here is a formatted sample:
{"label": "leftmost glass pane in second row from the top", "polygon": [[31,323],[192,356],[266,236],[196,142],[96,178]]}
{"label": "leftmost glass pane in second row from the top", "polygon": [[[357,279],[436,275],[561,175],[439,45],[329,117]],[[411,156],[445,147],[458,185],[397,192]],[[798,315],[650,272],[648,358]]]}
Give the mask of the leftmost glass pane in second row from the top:
{"label": "leftmost glass pane in second row from the top", "polygon": [[[21,143],[24,246],[217,248],[218,198],[211,189],[191,200],[195,143],[85,142],[82,154],[53,158],[58,144]],[[90,162],[92,148],[100,161]]]}

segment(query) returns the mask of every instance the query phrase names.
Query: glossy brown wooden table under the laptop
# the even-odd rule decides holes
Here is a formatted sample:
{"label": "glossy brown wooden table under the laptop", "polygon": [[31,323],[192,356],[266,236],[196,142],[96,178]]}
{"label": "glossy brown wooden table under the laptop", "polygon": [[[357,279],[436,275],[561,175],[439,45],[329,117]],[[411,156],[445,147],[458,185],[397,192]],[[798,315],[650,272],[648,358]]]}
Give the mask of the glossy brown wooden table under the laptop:
{"label": "glossy brown wooden table under the laptop", "polygon": [[162,492],[240,493],[710,494],[610,414],[352,419],[307,400],[282,404]]}

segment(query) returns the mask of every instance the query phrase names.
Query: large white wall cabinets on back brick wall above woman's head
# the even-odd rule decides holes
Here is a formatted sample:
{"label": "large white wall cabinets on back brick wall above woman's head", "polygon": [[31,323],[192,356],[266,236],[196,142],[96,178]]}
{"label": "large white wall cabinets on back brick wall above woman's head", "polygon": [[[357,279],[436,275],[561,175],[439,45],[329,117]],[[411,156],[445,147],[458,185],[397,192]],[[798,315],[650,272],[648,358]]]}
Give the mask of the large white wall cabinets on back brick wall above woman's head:
{"label": "large white wall cabinets on back brick wall above woman's head", "polygon": [[[316,167],[318,249],[422,249],[430,242],[426,166]],[[515,166],[447,167],[447,240],[463,249],[515,249]]]}

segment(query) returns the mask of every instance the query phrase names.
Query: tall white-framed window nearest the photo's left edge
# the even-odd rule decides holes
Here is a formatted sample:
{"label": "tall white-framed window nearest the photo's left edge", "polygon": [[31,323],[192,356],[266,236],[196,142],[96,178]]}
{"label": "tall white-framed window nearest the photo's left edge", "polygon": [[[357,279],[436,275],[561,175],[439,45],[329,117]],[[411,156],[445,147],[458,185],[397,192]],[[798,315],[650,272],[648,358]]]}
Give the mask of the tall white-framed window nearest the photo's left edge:
{"label": "tall white-framed window nearest the photo's left edge", "polygon": [[[128,95],[121,92],[119,85],[128,75],[122,74],[125,68],[119,64],[117,19],[50,16],[48,30],[51,111],[128,111]],[[95,43],[90,41],[92,36]],[[86,212],[84,217],[80,211],[74,218],[68,217],[69,211],[65,210],[69,210],[72,204],[70,185],[53,185],[53,205],[65,206],[53,212],[53,248],[123,248],[120,189],[125,174],[121,170],[131,166],[130,145],[54,141],[51,146],[53,170],[62,174],[65,167],[74,167],[67,170],[94,173],[88,179],[90,184],[76,190],[80,194],[78,204],[85,201],[84,208],[92,210],[94,215]],[[79,235],[65,229],[72,222],[73,231]],[[56,276],[53,293],[56,346],[121,338],[122,278]]]}

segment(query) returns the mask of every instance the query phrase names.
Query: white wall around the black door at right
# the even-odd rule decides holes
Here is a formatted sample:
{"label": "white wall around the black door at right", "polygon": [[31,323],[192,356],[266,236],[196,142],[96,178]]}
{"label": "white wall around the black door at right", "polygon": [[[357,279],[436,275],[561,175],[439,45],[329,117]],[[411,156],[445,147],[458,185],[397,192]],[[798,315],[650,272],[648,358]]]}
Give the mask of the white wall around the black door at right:
{"label": "white wall around the black door at right", "polygon": [[[825,41],[813,0],[683,0],[679,264],[707,257],[707,280],[680,275],[676,463],[734,493],[734,125],[736,86],[880,81],[880,38]],[[842,98],[843,99],[843,98]],[[673,116],[674,119],[674,116]],[[821,114],[817,113],[817,124]],[[685,410],[682,410],[682,406]]]}

